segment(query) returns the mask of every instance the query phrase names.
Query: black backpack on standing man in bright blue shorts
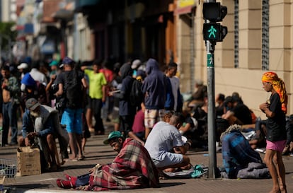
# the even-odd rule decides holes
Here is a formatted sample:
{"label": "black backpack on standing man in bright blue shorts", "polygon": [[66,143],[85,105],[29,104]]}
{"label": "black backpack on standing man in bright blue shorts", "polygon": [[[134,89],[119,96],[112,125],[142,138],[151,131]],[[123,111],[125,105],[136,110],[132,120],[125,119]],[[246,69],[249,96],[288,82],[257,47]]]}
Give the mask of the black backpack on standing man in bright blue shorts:
{"label": "black backpack on standing man in bright blue shorts", "polygon": [[66,98],[66,107],[76,109],[81,107],[82,102],[82,86],[81,81],[77,76],[77,71],[73,70],[72,74],[66,74],[64,80],[64,92]]}

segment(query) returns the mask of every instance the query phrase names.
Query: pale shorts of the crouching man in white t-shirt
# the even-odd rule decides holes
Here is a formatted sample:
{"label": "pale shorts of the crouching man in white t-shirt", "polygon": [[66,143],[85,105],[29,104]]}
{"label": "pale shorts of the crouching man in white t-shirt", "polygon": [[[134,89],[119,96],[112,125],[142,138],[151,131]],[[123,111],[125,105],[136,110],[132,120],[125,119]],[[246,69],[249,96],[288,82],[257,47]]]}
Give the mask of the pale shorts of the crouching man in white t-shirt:
{"label": "pale shorts of the crouching man in white t-shirt", "polygon": [[171,166],[183,162],[183,155],[180,153],[170,153],[166,152],[165,158],[163,160],[153,159],[156,168],[163,168],[166,166]]}

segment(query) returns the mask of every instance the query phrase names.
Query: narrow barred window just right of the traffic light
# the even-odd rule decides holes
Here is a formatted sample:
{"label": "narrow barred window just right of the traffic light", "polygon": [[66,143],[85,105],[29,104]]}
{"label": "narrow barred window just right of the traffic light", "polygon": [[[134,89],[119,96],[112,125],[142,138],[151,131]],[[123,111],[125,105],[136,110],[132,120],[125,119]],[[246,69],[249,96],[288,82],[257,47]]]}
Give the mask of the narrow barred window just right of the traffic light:
{"label": "narrow barred window just right of the traffic light", "polygon": [[234,67],[239,67],[239,0],[234,3]]}

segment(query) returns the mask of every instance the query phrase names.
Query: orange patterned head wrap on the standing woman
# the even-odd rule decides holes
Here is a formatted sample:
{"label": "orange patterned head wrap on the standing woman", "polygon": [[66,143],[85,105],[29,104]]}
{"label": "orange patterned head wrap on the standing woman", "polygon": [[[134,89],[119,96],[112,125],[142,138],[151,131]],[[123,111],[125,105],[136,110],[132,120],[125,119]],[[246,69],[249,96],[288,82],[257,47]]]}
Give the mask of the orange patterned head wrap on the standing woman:
{"label": "orange patterned head wrap on the standing woman", "polygon": [[277,74],[273,71],[268,71],[263,74],[261,78],[263,82],[272,83],[272,88],[280,95],[282,103],[282,111],[287,113],[288,96],[286,93],[285,83]]}

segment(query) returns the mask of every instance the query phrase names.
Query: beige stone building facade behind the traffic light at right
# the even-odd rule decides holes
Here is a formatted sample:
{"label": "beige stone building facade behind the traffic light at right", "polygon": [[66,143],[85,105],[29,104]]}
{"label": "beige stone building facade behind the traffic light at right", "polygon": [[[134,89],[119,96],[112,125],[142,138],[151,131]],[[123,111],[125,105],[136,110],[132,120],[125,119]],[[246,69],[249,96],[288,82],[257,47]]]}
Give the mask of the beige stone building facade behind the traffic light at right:
{"label": "beige stone building facade behind the traffic light at right", "polygon": [[[217,42],[214,52],[215,93],[231,95],[238,92],[257,116],[265,118],[258,107],[270,97],[270,93],[263,90],[261,76],[265,71],[275,71],[285,81],[289,97],[287,114],[291,115],[293,1],[223,0],[221,4],[228,8],[222,25],[228,27],[229,33],[223,42]],[[197,4],[193,74],[207,84],[207,52],[202,39],[202,23],[202,4]],[[183,33],[183,28],[178,30]],[[190,52],[185,52],[184,42],[178,42],[182,45],[178,47],[181,53],[178,63],[183,66],[188,65],[184,59],[190,58],[185,55]],[[185,85],[184,81],[181,83]]]}

